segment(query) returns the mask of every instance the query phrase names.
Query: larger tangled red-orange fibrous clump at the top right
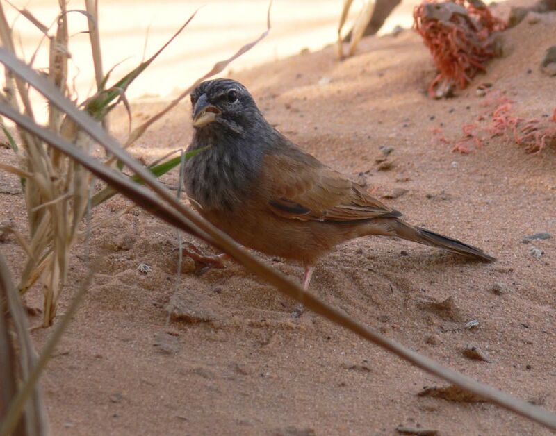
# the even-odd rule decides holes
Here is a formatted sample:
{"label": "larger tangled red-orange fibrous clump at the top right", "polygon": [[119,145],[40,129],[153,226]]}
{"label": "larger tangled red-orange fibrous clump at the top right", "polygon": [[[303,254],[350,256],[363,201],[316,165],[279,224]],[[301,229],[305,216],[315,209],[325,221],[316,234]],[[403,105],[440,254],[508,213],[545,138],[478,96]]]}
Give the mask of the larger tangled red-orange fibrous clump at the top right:
{"label": "larger tangled red-orange fibrous clump at the top right", "polygon": [[493,17],[481,0],[426,1],[414,8],[414,29],[430,49],[439,74],[429,86],[431,97],[464,89],[486,61],[496,56],[496,33],[505,22]]}

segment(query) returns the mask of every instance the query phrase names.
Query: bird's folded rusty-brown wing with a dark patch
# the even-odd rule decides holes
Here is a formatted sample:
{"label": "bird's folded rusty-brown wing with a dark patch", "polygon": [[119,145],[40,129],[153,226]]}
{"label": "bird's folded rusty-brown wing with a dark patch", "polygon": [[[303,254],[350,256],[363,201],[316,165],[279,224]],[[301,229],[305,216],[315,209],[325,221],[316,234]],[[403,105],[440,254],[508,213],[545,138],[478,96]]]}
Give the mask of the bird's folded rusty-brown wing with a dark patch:
{"label": "bird's folded rusty-brown wing with a dark patch", "polygon": [[298,149],[265,156],[261,188],[270,210],[284,218],[341,222],[401,215]]}

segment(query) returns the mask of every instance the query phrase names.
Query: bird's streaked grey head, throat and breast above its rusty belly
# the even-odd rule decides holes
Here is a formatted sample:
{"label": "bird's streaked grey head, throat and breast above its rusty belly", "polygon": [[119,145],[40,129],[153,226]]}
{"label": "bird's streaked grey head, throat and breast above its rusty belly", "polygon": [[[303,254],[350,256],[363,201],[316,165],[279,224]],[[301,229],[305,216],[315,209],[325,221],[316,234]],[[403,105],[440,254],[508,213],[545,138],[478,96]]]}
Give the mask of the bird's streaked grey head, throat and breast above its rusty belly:
{"label": "bird's streaked grey head, throat and breast above its rusty belly", "polygon": [[253,189],[265,153],[280,136],[253,97],[231,79],[206,81],[191,92],[195,132],[186,161],[186,191],[203,208],[235,210]]}

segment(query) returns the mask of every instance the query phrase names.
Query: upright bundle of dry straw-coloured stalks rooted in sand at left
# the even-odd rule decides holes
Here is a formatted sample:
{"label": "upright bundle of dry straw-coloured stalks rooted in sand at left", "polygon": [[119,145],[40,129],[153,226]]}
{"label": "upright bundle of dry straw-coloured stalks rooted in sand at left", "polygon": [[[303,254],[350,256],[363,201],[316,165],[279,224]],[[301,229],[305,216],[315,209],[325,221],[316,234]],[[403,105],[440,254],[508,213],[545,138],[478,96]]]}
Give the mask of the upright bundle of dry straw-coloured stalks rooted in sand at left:
{"label": "upright bundle of dry straw-coloured stalks rooted in sand at left", "polygon": [[[50,83],[63,94],[67,94],[67,59],[69,56],[67,10],[65,1],[60,0],[60,15],[56,20],[54,35],[49,37]],[[28,17],[29,14],[26,15]],[[33,19],[38,28],[47,30]],[[0,36],[2,44],[15,53],[11,29],[0,6]],[[7,89],[2,96],[11,106],[19,110],[17,96],[21,99],[27,115],[33,117],[33,108],[25,84],[14,80],[6,71]],[[17,87],[17,94],[15,93]],[[87,147],[86,136],[77,137],[71,121],[65,122],[63,113],[49,106],[49,128],[74,140],[76,146]],[[24,192],[28,212],[31,242],[29,256],[22,274],[19,289],[26,292],[42,276],[44,293],[44,326],[51,324],[56,316],[60,290],[65,283],[70,248],[75,240],[76,227],[81,221],[88,199],[90,174],[55,149],[20,131],[22,151],[18,153],[19,165],[26,171]]]}

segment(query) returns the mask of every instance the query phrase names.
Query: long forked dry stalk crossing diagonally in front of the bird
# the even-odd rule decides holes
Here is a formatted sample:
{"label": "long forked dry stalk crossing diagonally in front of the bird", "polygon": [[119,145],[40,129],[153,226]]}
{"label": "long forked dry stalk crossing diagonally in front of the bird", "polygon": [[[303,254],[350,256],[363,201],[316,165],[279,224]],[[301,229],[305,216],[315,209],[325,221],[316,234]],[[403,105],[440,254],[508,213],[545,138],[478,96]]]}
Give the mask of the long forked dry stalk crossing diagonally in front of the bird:
{"label": "long forked dry stalk crossing diagonally in front of the bird", "polygon": [[63,110],[67,114],[67,117],[70,117],[76,124],[79,124],[83,131],[86,131],[97,142],[106,147],[110,153],[113,153],[114,156],[124,162],[124,165],[140,176],[143,181],[145,181],[145,185],[150,187],[151,190],[145,190],[136,183],[133,183],[133,181],[122,178],[113,169],[106,167],[102,162],[84,153],[83,150],[77,149],[62,137],[56,136],[51,131],[38,126],[33,119],[16,112],[9,106],[0,104],[0,113],[15,121],[22,128],[33,133],[33,135],[37,135],[42,140],[48,142],[51,146],[56,147],[60,152],[66,153],[67,156],[71,156],[73,159],[79,160],[81,165],[89,169],[95,176],[106,181],[106,183],[137,203],[141,208],[160,217],[168,224],[195,235],[218,249],[221,249],[224,253],[229,254],[254,274],[260,276],[287,296],[304,303],[306,308],[322,315],[329,319],[329,321],[351,330],[353,333],[356,333],[369,342],[382,346],[382,348],[407,360],[407,362],[430,372],[430,374],[448,380],[450,383],[461,387],[461,389],[472,392],[482,399],[501,405],[508,410],[512,410],[517,414],[521,414],[539,424],[556,430],[555,414],[526,401],[516,399],[505,392],[500,392],[494,387],[468,378],[467,376],[459,374],[457,371],[443,367],[430,358],[420,355],[394,342],[388,337],[380,335],[371,328],[363,326],[363,324],[345,314],[345,312],[333,308],[327,303],[320,301],[311,293],[305,292],[300,284],[295,283],[275,268],[270,267],[270,265],[256,258],[254,254],[238,246],[229,236],[222,233],[199,217],[199,215],[195,214],[190,208],[178,201],[172,192],[165,189],[156,177],[145,169],[138,160],[126,153],[122,146],[108,135],[106,131],[100,128],[93,119],[79,111],[69,100],[65,99],[65,97],[57,92],[54,87],[51,87],[47,81],[44,81],[42,77],[38,76],[33,70],[17,60],[12,54],[6,50],[0,49],[0,62],[8,65],[10,69],[17,72],[27,83],[39,90],[52,104],[58,106],[60,110]]}

